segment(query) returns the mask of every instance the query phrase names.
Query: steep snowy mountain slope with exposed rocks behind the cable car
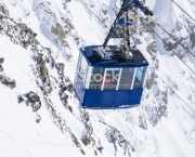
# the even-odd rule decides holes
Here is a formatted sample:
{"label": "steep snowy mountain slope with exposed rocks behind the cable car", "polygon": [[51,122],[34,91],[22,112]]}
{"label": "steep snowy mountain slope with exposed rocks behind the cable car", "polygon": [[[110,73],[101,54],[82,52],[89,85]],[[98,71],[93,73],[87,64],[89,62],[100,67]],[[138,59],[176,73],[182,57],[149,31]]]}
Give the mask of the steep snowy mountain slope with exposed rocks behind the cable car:
{"label": "steep snowy mountain slope with exposed rocks behind the cable car", "polygon": [[[195,1],[174,2],[194,17]],[[119,0],[0,0],[0,157],[194,157],[195,22],[171,0],[145,3],[164,30],[140,11],[131,28],[150,62],[141,105],[88,110],[78,49],[103,43]]]}

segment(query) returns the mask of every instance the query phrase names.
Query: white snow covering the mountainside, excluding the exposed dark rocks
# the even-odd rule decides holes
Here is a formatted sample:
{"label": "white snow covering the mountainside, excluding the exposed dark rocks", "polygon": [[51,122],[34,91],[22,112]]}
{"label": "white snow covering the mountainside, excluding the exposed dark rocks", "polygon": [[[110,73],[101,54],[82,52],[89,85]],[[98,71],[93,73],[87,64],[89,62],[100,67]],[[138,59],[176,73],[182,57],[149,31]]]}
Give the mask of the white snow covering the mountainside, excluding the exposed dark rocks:
{"label": "white snow covering the mountainside, excluding the exposed dark rocks", "polygon": [[[115,17],[113,10],[115,4],[113,0],[80,0],[101,19],[108,17],[103,25],[79,0],[67,2],[66,10],[63,6],[65,1],[0,0],[0,3],[4,3],[10,12],[10,17],[16,23],[25,23],[38,35],[36,39],[41,45],[52,50],[52,56],[56,63],[65,64],[64,75],[74,82],[79,48],[103,43],[108,31],[105,25],[110,27]],[[192,17],[194,16],[195,6],[188,0],[176,0],[176,2]],[[94,3],[93,8],[90,6],[92,3]],[[194,22],[185,13],[170,0],[146,0],[146,5],[154,10],[155,16],[168,15],[167,23],[161,21],[164,17],[160,17],[159,21],[156,18],[156,22],[164,26],[169,34],[173,34],[177,22],[180,22],[183,25],[182,29],[176,31],[174,35],[178,38],[186,37],[190,44],[191,28],[186,19],[191,22],[192,26]],[[108,8],[107,15],[103,14],[103,8]],[[28,12],[29,15],[26,15]],[[62,17],[68,18],[74,25],[74,28],[65,37],[69,48],[63,48],[60,41],[55,43],[57,37],[51,32],[51,27],[55,23],[61,24],[66,29],[67,24]],[[161,38],[168,37],[159,27],[156,27],[155,30]],[[75,40],[77,36],[79,44]],[[75,145],[70,133],[67,130],[62,133],[47,109],[46,95],[42,94],[36,83],[36,81],[40,82],[40,79],[32,71],[32,68],[36,67],[31,57],[34,52],[30,49],[22,48],[20,44],[14,44],[6,35],[1,34],[0,57],[4,57],[2,74],[15,79],[16,88],[9,89],[0,83],[0,157],[92,157],[95,156],[94,151],[98,152],[98,156],[102,157],[128,156],[127,152],[125,155],[123,147],[117,143],[117,136],[122,136],[134,148],[134,152],[129,148],[132,157],[194,157],[195,113],[188,108],[190,106],[195,110],[194,74],[177,55],[172,56],[170,51],[166,51],[162,41],[157,36],[155,36],[157,45],[155,60],[146,51],[147,45],[154,39],[148,32],[143,32],[140,39],[142,44],[138,44],[138,48],[150,62],[146,78],[151,78],[151,69],[154,69],[165,83],[159,78],[155,78],[152,89],[145,87],[142,103],[135,108],[86,110],[80,108],[74,93],[66,92],[68,105],[73,108],[72,113],[62,104],[58,96],[58,84],[54,84],[54,79],[51,77],[53,76],[60,81],[57,71],[47,64],[51,82],[54,84],[52,86],[53,91],[47,99],[51,100],[57,115],[65,120],[66,127],[78,140],[80,147],[86,153],[82,155],[79,147]],[[182,51],[184,50],[182,49]],[[193,52],[192,49],[190,51]],[[47,56],[46,52],[42,53]],[[73,57],[67,60],[67,54],[72,54]],[[194,56],[187,53],[183,61],[195,71]],[[159,62],[159,68],[155,68],[157,62]],[[17,95],[30,91],[36,92],[41,100],[42,105],[37,113],[32,113],[31,107],[25,103],[17,103]],[[164,101],[166,93],[167,105]],[[162,106],[167,107],[167,112],[160,115],[160,107]],[[89,121],[82,119],[84,114],[89,114]],[[38,115],[41,116],[39,123],[36,122]],[[155,121],[156,118],[157,122]],[[146,125],[146,129],[143,129],[141,123]],[[94,140],[94,143],[91,142],[88,146],[81,141],[87,132],[86,125],[92,128],[91,138]],[[117,139],[115,141],[117,151],[108,135],[115,129],[119,131],[116,133],[117,135],[113,135],[114,139]],[[102,153],[99,151],[100,147],[103,147]]]}

